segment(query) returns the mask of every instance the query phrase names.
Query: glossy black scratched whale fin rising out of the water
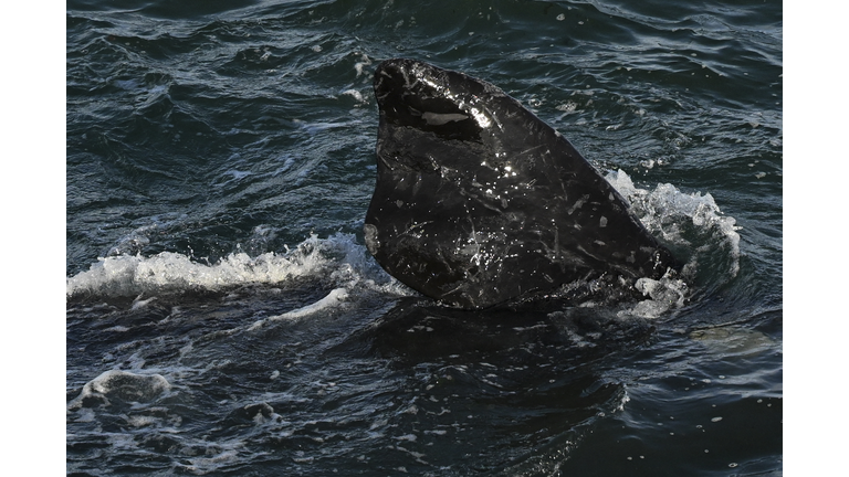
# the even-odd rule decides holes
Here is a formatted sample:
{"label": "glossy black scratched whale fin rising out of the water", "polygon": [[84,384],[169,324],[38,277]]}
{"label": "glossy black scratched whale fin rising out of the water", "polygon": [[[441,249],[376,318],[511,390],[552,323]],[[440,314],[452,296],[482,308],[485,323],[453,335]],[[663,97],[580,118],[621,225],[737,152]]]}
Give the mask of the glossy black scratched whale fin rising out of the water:
{"label": "glossy black scratched whale fin rising out of the water", "polygon": [[480,309],[677,267],[572,144],[496,86],[396,59],[374,87],[366,246],[409,287]]}

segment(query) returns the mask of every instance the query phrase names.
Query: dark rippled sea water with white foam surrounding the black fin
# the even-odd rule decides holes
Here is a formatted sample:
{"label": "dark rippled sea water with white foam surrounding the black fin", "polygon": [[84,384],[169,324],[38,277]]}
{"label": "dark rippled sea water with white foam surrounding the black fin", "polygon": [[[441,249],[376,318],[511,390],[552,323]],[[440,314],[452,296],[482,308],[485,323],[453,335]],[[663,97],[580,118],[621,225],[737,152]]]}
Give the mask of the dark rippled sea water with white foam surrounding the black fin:
{"label": "dark rippled sea water with white foam surrounding the black fin", "polygon": [[[776,1],[69,1],[67,475],[783,474]],[[364,245],[371,75],[503,88],[683,262],[459,311]]]}

